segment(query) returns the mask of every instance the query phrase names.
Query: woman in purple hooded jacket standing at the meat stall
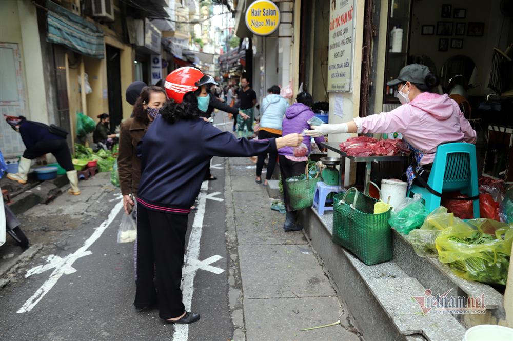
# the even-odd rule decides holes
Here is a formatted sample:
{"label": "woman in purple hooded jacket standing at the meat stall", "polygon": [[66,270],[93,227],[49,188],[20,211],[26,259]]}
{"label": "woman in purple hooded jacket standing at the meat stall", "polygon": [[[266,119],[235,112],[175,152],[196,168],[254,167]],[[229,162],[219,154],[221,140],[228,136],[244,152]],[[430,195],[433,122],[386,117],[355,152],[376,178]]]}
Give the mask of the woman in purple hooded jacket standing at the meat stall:
{"label": "woman in purple hooded jacket standing at the meat stall", "polygon": [[[295,97],[297,103],[294,103],[288,107],[285,112],[285,118],[282,123],[282,135],[285,136],[291,133],[302,133],[305,129],[310,129],[308,120],[315,116],[312,111],[313,99],[312,95],[308,92],[301,92]],[[303,143],[308,148],[308,154],[310,154],[311,137],[305,136]],[[319,144],[324,141],[324,136],[316,137],[315,142]],[[294,149],[291,147],[283,147],[278,150],[279,162],[280,162],[280,173],[283,184],[283,197],[285,201],[285,208],[287,209],[287,216],[285,218],[285,225],[283,229],[285,232],[288,231],[300,231],[303,227],[298,224],[297,212],[292,210],[290,207],[290,199],[287,193],[287,186],[285,185],[285,179],[298,176],[305,172],[306,162],[308,156],[295,157]]]}

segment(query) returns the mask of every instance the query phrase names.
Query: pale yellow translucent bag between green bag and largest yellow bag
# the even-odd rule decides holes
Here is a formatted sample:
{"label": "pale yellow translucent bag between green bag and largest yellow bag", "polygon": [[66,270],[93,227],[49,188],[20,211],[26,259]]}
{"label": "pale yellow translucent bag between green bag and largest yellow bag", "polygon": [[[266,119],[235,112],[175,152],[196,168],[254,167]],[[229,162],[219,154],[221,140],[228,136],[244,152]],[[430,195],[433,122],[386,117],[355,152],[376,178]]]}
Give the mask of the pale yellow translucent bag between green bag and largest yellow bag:
{"label": "pale yellow translucent bag between green bag and largest yellow bag", "polygon": [[456,218],[453,213],[447,213],[443,206],[429,213],[420,229],[412,230],[407,238],[413,246],[415,253],[421,257],[436,257],[436,239],[440,231],[453,226],[455,223],[464,224],[463,220]]}

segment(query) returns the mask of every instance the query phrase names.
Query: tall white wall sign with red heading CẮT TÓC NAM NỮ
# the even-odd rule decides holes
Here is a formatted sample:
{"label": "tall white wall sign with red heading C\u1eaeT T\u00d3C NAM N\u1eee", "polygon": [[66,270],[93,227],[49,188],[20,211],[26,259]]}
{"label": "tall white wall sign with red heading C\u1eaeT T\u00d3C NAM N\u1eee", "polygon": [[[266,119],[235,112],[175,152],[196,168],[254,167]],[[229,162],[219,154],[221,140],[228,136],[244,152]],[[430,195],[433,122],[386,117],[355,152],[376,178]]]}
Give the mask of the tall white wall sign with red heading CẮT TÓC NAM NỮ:
{"label": "tall white wall sign with red heading C\u1eaeT T\u00d3C NAM N\u1eee", "polygon": [[354,0],[330,1],[328,91],[352,90],[354,5]]}

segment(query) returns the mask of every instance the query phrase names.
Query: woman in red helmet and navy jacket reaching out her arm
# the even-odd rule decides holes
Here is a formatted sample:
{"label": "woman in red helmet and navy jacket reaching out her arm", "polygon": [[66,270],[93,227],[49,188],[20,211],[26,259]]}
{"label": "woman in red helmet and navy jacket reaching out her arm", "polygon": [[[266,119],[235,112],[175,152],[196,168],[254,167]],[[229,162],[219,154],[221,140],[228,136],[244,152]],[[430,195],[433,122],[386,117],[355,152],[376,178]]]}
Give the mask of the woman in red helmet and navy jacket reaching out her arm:
{"label": "woman in red helmet and navy jacket reaching out her arm", "polygon": [[[298,146],[301,134],[266,140],[237,139],[200,118],[194,91],[204,74],[177,69],[166,78],[168,101],[139,148],[142,175],[137,191],[137,280],[134,305],[158,303],[166,323],[200,319],[182,303],[180,283],[187,216],[213,156],[242,157]],[[156,278],[155,283],[153,278]]]}

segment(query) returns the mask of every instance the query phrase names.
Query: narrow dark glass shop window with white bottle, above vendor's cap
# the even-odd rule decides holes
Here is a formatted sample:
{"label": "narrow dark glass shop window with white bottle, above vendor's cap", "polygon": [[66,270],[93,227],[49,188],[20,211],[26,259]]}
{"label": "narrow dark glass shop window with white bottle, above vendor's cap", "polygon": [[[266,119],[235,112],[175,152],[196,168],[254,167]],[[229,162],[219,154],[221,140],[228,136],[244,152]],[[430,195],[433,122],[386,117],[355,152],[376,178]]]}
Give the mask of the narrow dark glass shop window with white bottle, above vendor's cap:
{"label": "narrow dark glass shop window with white bottle, above vendor's cap", "polygon": [[393,96],[394,90],[386,82],[394,79],[401,68],[408,64],[411,0],[390,0],[388,2],[387,52],[385,61],[384,103],[399,103]]}

